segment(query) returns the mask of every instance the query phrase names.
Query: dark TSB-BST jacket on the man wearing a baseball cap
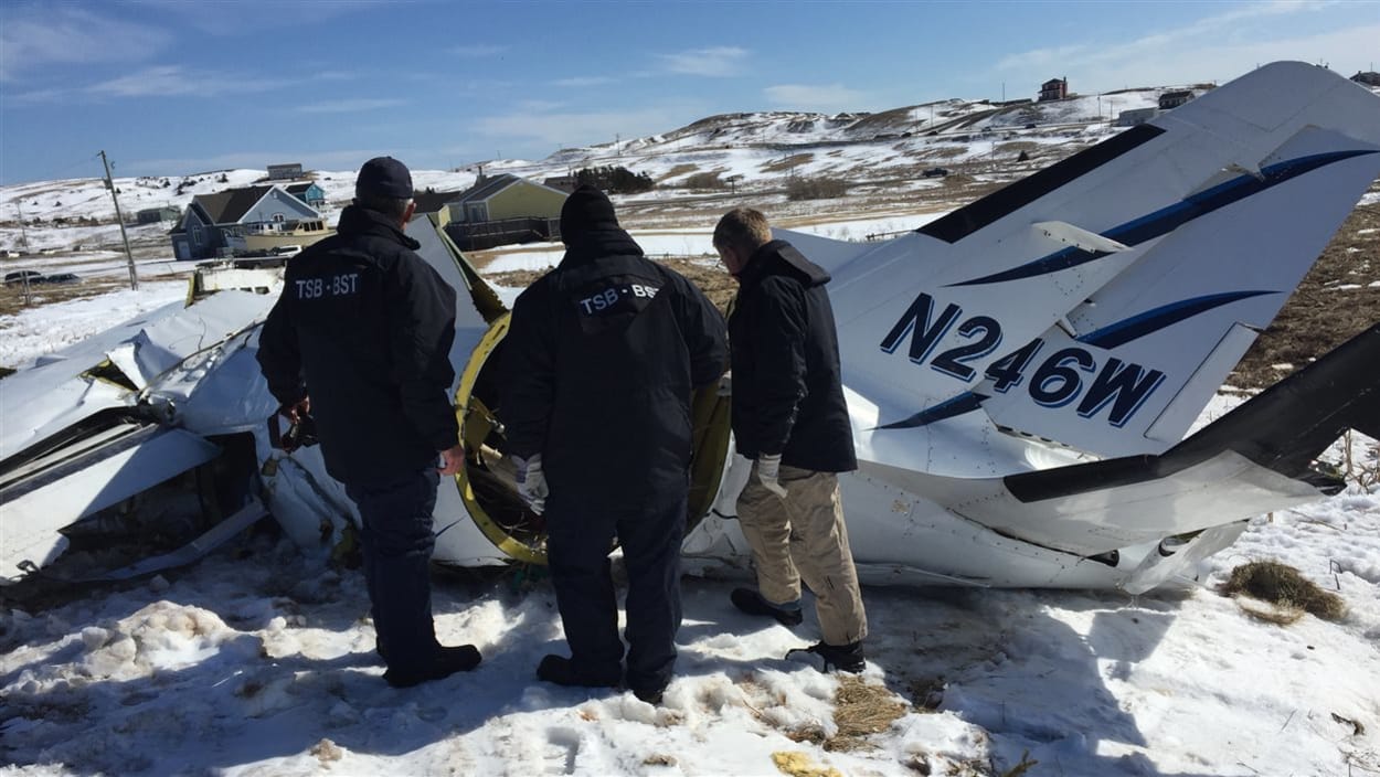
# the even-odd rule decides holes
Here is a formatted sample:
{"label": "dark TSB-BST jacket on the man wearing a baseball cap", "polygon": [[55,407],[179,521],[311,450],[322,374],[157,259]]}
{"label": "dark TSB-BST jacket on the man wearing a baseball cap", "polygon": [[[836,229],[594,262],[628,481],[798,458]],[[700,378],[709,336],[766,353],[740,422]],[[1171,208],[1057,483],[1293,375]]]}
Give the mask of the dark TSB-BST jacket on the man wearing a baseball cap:
{"label": "dark TSB-BST jacket on the man wearing a baseball cap", "polygon": [[333,478],[386,482],[458,443],[455,290],[379,213],[346,207],[335,232],[288,261],[259,367],[283,404],[310,396]]}

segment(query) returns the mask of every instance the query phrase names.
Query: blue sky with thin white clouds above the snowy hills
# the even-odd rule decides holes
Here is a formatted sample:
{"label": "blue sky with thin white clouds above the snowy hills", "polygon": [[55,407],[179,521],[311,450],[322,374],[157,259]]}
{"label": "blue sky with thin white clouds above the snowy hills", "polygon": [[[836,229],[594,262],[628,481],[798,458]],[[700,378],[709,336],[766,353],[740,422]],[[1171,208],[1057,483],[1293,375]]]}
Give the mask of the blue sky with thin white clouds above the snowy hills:
{"label": "blue sky with thin white clouds above the snowy hills", "polygon": [[738,110],[1380,66],[1380,1],[0,1],[0,184],[301,161],[414,168]]}

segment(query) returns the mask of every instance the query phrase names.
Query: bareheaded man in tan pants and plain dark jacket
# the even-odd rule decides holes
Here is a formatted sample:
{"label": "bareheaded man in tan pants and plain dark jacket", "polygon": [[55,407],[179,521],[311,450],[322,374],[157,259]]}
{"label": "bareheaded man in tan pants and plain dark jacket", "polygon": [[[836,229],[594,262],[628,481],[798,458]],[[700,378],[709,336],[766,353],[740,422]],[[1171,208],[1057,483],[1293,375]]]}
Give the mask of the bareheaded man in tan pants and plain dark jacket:
{"label": "bareheaded man in tan pants and plain dark jacket", "polygon": [[824,636],[803,650],[822,657],[825,669],[860,672],[867,614],[838,480],[857,469],[857,458],[824,290],[829,275],[773,240],[766,217],[752,208],[724,214],[713,247],[738,280],[729,315],[733,433],[738,453],[753,460],[738,522],[758,589],[736,589],[733,604],[796,625],[803,580]]}

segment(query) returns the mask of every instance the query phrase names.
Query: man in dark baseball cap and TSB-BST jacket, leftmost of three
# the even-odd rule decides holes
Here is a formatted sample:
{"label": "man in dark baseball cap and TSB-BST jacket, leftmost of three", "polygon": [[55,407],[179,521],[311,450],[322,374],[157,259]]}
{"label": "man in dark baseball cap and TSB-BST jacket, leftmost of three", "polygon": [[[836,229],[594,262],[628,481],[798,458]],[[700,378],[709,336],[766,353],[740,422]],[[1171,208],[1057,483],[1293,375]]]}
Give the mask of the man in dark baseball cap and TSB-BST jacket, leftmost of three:
{"label": "man in dark baseball cap and TSB-BST jacket, leftmost of three", "polygon": [[402,161],[366,161],[335,235],[288,262],[258,348],[280,413],[315,418],[326,471],[359,508],[377,649],[395,687],[480,660],[473,645],[437,643],[432,621],[436,486],[464,451],[448,397],[455,290],[403,233],[415,207]]}

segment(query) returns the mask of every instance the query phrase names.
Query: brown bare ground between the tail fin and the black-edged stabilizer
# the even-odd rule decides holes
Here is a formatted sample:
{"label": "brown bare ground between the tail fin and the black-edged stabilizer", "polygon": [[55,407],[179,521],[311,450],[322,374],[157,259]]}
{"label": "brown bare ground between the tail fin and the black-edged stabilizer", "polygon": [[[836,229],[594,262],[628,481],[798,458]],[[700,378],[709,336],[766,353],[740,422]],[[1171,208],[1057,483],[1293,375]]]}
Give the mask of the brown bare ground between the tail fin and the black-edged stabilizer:
{"label": "brown bare ground between the tail fin and the black-edged stabilizer", "polygon": [[1380,206],[1358,206],[1227,384],[1267,388],[1380,320]]}

